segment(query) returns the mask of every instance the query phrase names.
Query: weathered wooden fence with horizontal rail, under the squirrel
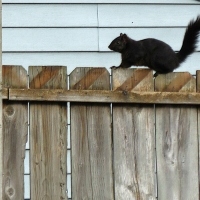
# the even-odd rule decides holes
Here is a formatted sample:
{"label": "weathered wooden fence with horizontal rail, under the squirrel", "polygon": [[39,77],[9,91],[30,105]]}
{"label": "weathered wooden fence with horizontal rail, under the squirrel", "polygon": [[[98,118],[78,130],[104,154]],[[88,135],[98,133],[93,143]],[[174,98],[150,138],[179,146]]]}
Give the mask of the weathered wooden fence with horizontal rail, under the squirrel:
{"label": "weathered wooden fence with horizontal rail, under the squirrel", "polygon": [[67,142],[73,200],[199,200],[200,71],[155,80],[149,69],[76,68],[69,81],[63,66],[2,74],[3,200],[24,199],[28,118],[31,200],[67,199]]}

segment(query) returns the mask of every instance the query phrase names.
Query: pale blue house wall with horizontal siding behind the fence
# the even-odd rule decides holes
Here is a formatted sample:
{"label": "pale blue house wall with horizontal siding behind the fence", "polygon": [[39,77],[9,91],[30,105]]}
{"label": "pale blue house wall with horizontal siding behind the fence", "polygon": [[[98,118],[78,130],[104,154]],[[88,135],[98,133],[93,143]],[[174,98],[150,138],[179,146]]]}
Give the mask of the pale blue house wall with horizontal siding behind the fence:
{"label": "pale blue house wall with horizontal siding behind the fence", "polygon": [[[29,65],[65,65],[68,74],[75,67],[110,70],[110,66],[119,65],[120,54],[111,52],[108,45],[121,32],[135,40],[160,39],[178,51],[188,22],[200,14],[200,2],[195,0],[3,0],[2,7],[2,63],[26,69]],[[199,61],[200,42],[197,51],[176,71],[195,74]],[[70,144],[68,155],[70,163]],[[28,161],[27,143],[27,199]],[[70,173],[69,165],[69,197]]]}

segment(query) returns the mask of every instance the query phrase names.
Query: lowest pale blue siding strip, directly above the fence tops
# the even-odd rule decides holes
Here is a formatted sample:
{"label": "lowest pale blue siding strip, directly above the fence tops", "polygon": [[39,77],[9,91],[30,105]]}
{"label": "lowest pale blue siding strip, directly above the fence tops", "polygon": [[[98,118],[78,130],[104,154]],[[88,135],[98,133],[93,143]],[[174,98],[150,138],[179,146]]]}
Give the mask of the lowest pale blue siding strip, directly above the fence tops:
{"label": "lowest pale blue siding strip, directly above the fence tops", "polygon": [[[196,74],[200,69],[200,52],[192,54],[181,67],[175,71],[189,71]],[[49,52],[49,53],[3,53],[4,65],[20,64],[25,69],[29,65],[61,65],[67,66],[67,72],[71,73],[75,67],[110,67],[120,64],[120,54],[115,52]],[[70,140],[69,140],[70,141]]]}

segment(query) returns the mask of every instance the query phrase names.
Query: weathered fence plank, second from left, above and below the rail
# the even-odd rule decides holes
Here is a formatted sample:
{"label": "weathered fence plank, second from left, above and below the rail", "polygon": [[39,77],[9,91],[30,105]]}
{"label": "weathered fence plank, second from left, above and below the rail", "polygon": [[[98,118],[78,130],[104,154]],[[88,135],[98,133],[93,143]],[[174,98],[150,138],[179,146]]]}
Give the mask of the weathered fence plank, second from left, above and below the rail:
{"label": "weathered fence plank, second from left, above and below the rail", "polygon": [[[29,67],[30,88],[66,89],[66,67]],[[30,103],[31,200],[66,200],[66,103]]]}

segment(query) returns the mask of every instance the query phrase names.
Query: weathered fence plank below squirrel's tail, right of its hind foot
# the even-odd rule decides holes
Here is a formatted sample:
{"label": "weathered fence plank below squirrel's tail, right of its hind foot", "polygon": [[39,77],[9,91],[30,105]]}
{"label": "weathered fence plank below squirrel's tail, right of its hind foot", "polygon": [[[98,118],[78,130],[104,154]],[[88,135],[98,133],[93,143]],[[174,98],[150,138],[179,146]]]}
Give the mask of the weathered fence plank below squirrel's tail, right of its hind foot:
{"label": "weathered fence plank below squirrel's tail, right of its hind foot", "polygon": [[[156,91],[195,92],[189,73],[159,75]],[[197,109],[156,105],[158,199],[199,199]]]}

